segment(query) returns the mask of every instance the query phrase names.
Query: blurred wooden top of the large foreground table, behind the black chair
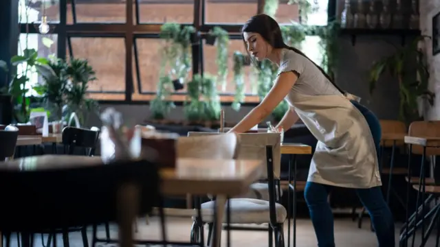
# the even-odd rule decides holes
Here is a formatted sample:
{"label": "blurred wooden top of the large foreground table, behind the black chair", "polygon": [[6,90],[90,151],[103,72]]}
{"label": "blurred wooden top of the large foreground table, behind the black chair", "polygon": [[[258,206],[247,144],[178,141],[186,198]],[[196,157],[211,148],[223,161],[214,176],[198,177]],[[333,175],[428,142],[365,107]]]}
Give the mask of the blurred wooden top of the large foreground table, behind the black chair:
{"label": "blurred wooden top of the large foreground table, behind the black chair", "polygon": [[[41,155],[0,164],[1,170],[23,172],[102,165],[100,156]],[[162,191],[168,195],[226,194],[238,196],[261,176],[263,163],[255,160],[178,158],[175,168],[160,169]]]}

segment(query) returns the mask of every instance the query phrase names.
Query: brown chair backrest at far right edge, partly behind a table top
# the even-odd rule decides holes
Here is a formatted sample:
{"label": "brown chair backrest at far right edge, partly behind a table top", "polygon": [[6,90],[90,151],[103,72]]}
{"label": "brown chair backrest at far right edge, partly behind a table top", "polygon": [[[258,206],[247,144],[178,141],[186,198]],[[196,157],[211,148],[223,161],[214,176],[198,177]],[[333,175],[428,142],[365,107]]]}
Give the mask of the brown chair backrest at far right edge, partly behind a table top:
{"label": "brown chair backrest at far right edge, partly behind a table top", "polygon": [[[440,121],[413,121],[408,134],[413,137],[440,137]],[[413,154],[423,154],[423,147],[412,145]],[[440,148],[426,148],[426,155],[440,155]]]}

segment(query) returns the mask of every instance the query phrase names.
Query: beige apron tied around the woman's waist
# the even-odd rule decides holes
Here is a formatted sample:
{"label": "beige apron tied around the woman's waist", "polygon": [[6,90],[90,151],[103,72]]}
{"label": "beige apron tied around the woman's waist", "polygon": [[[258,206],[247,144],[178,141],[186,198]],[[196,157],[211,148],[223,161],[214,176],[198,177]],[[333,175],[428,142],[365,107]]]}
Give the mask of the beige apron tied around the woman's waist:
{"label": "beige apron tied around the woman's waist", "polygon": [[318,139],[307,181],[347,188],[382,185],[371,130],[349,99],[293,90],[286,99]]}

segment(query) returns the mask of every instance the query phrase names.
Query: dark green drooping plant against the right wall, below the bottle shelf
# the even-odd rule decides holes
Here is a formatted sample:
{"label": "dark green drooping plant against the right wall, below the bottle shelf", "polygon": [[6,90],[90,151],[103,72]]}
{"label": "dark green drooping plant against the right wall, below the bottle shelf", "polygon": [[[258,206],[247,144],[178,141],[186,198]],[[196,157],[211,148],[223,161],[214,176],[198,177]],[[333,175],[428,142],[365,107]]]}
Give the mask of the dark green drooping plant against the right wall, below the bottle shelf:
{"label": "dark green drooping plant against the right wall, below the bottle shelf", "polygon": [[399,119],[410,124],[420,117],[419,100],[426,100],[432,106],[434,93],[428,89],[430,73],[423,51],[418,48],[419,41],[428,36],[419,36],[406,47],[396,47],[391,56],[373,63],[369,73],[370,94],[373,94],[377,81],[385,71],[389,71],[399,84]]}

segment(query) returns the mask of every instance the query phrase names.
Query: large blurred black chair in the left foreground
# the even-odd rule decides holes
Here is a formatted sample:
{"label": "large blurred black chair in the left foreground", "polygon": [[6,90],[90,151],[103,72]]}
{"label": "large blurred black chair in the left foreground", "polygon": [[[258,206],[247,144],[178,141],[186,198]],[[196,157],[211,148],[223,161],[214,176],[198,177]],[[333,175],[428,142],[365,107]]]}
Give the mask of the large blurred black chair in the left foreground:
{"label": "large blurred black chair in the left foreground", "polygon": [[120,221],[118,191],[127,184],[140,191],[137,215],[150,213],[161,200],[157,166],[146,161],[32,169],[0,169],[0,187],[14,188],[2,192],[10,200],[0,204],[0,231],[7,247],[11,233],[20,232],[23,247],[29,247],[34,233]]}

